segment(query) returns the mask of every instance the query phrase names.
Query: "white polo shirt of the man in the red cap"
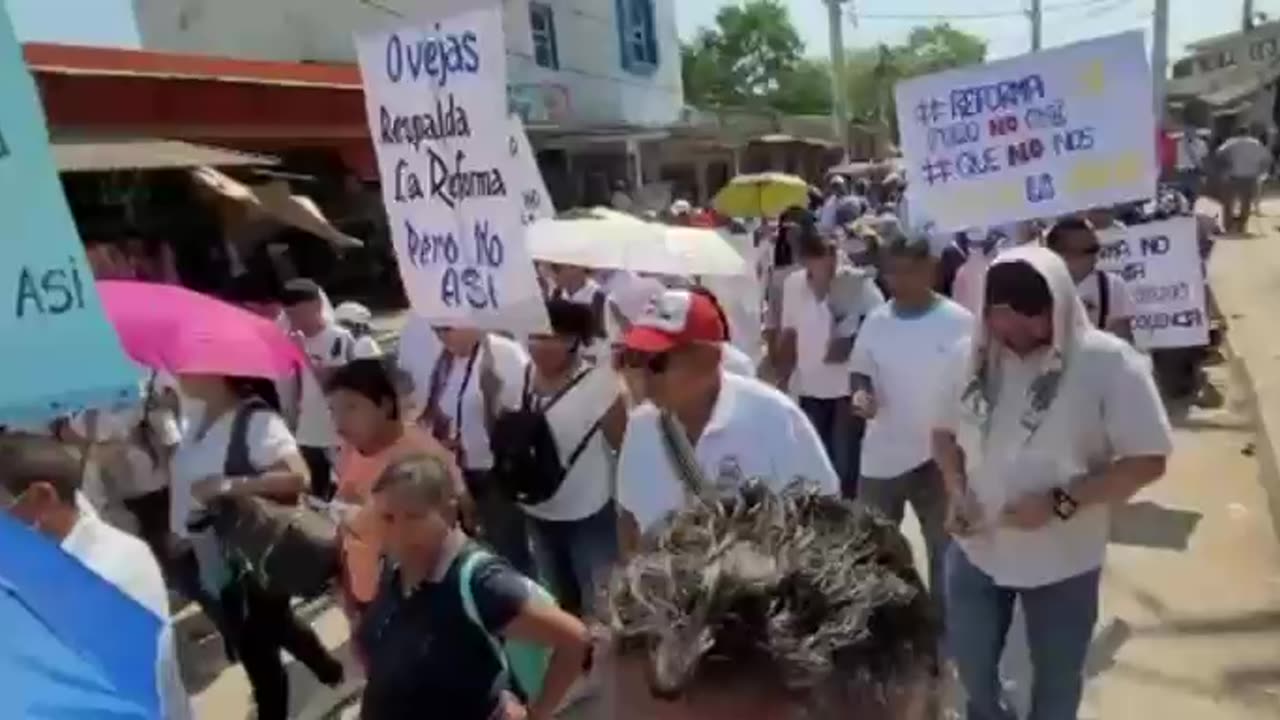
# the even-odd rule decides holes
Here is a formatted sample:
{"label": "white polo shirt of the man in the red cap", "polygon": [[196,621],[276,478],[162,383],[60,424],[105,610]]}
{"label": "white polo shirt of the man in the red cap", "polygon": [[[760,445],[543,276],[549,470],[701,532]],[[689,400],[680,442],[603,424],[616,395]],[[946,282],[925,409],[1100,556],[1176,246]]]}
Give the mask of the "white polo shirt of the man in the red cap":
{"label": "white polo shirt of the man in the red cap", "polygon": [[[631,411],[618,457],[618,503],[648,530],[685,506],[685,486],[668,459],[658,409]],[[748,480],[782,489],[803,478],[837,495],[840,479],[809,419],[787,396],[759,380],[721,373],[721,391],[694,446],[707,480],[732,492]]]}

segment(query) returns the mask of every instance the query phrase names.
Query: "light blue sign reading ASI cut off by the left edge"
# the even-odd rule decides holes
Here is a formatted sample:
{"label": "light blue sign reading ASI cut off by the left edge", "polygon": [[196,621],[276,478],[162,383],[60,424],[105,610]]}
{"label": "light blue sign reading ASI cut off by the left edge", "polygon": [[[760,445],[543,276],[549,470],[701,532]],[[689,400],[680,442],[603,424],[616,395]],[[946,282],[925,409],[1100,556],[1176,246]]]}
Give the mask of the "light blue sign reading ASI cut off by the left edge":
{"label": "light blue sign reading ASI cut off by the left edge", "polygon": [[49,132],[0,6],[0,424],[137,396],[138,372],[102,314],[54,169]]}

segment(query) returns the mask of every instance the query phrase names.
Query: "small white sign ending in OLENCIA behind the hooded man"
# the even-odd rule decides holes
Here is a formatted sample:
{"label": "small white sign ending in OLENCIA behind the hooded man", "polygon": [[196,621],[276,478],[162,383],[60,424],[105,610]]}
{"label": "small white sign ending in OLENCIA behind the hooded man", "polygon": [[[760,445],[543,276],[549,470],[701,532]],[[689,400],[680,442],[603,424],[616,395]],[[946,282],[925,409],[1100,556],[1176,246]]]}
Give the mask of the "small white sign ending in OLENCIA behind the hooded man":
{"label": "small white sign ending in OLENCIA behind the hooded man", "polygon": [[1196,219],[1176,218],[1098,234],[1098,266],[1125,281],[1138,307],[1134,342],[1143,348],[1207,345],[1204,272]]}

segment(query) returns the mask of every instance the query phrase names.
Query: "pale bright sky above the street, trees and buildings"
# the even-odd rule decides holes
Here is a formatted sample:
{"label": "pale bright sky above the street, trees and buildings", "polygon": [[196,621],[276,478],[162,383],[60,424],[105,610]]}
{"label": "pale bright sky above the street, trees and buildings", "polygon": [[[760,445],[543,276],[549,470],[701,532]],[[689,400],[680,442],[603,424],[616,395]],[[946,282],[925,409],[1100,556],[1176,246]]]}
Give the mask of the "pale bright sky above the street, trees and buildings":
{"label": "pale bright sky above the street, trees and buildings", "polygon": [[[178,1],[178,0],[173,0]],[[684,38],[710,26],[724,4],[742,0],[676,0]],[[988,42],[989,56],[1025,53],[1030,23],[1021,14],[1029,0],[847,0],[845,45],[895,42],[913,26],[948,22]],[[1149,28],[1155,0],[1043,0],[1044,45],[1062,45],[1120,29]],[[131,0],[0,0],[23,41],[59,41],[83,45],[137,46]],[[827,8],[823,0],[785,0],[812,55],[828,53]],[[1170,56],[1201,37],[1239,27],[1242,0],[1169,0]],[[1256,0],[1256,10],[1280,17],[1280,0]],[[856,6],[856,13],[852,8]],[[973,18],[972,15],[983,15]],[[970,15],[963,18],[963,15]],[[856,17],[856,26],[852,18]]]}

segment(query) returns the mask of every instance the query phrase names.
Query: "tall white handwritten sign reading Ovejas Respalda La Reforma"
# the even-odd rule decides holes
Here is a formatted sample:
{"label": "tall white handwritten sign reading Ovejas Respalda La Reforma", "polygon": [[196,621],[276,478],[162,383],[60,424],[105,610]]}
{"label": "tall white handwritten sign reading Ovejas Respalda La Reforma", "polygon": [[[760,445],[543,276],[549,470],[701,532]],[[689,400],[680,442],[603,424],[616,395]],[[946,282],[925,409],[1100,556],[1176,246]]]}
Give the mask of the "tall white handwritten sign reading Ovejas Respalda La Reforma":
{"label": "tall white handwritten sign reading Ovejas Respalda La Reforma", "polygon": [[360,35],[356,46],[413,311],[438,325],[547,328],[508,142],[502,6]]}

